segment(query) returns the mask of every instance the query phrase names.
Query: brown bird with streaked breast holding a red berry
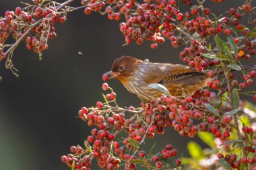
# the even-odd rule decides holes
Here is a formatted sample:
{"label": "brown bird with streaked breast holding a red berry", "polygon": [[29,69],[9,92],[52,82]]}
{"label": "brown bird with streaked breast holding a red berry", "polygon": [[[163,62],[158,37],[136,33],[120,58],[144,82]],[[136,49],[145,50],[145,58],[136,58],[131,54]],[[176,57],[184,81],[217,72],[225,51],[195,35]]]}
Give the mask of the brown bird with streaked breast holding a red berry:
{"label": "brown bird with streaked breast holding a red berry", "polygon": [[121,56],[115,59],[111,71],[104,73],[102,79],[118,79],[140,99],[156,100],[164,91],[172,96],[193,95],[207,86],[212,78],[208,71],[195,71],[185,65],[145,62],[133,56]]}

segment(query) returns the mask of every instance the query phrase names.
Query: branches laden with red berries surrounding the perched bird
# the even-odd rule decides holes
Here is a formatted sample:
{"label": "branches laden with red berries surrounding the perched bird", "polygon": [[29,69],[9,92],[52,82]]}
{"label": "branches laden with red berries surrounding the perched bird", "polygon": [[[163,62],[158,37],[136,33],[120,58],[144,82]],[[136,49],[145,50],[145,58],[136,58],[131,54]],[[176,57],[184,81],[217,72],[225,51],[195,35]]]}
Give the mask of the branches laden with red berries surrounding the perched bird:
{"label": "branches laden with red berries surrounding the perched bird", "polygon": [[[192,96],[163,95],[156,101],[141,103],[138,109],[119,108],[117,94],[104,83],[102,89],[110,89],[110,93],[104,95],[104,102],[98,101],[94,107],[84,107],[78,112],[79,118],[96,128],[88,136],[85,148],[71,146],[71,153],[61,158],[63,162],[75,169],[90,169],[92,159],[96,159],[102,169],[119,169],[121,165],[127,170],[138,166],[148,169],[182,167],[182,160],[176,158],[177,150],[170,144],[156,155],[140,149],[146,138],[163,134],[165,128],[171,126],[181,136],[194,137],[197,132],[207,132],[218,138],[225,147],[225,151],[218,154],[220,164],[226,161],[230,167],[244,169],[255,163],[255,129],[240,127],[243,121],[238,118],[239,112],[244,112],[239,95],[255,93],[244,89],[253,85],[256,72],[252,71],[252,66],[241,65],[256,53],[256,19],[251,18],[256,7],[252,6],[252,1],[231,7],[222,13],[222,18],[204,7],[202,1],[82,0],[81,7],[69,6],[73,1],[33,0],[34,4],[5,12],[0,18],[0,61],[8,57],[7,69],[13,69],[13,50],[23,40],[26,47],[41,58],[42,51],[48,48],[48,40],[57,36],[55,24],[64,23],[67,13],[77,9],[84,9],[86,15],[106,14],[108,19],[117,21],[123,15],[119,27],[126,44],[133,40],[137,44],[149,40],[151,48],[158,48],[166,40],[170,40],[174,48],[186,44],[179,54],[183,62],[196,71],[214,69],[207,71],[212,78],[207,82],[208,89],[201,89]],[[224,0],[212,1],[222,3]],[[183,4],[190,7],[188,11],[181,10]],[[241,20],[244,16],[249,18],[248,26]],[[6,44],[10,37],[15,40],[14,44]],[[238,81],[232,71],[242,71],[243,80]],[[224,76],[217,77],[218,73]],[[256,101],[256,95],[254,99]],[[121,131],[126,133],[122,140],[117,138]],[[230,147],[228,140],[234,136],[234,131],[237,140]]]}

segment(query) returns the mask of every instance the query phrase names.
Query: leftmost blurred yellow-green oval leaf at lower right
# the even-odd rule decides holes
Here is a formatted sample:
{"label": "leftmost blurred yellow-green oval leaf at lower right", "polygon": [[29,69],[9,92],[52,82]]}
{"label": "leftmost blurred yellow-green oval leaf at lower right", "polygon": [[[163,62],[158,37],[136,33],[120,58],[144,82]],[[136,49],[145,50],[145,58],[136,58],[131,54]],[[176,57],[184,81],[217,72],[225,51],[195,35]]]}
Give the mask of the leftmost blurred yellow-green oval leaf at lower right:
{"label": "leftmost blurred yellow-green oval leaf at lower right", "polygon": [[203,159],[205,157],[203,149],[196,142],[190,141],[187,144],[187,150],[193,159]]}

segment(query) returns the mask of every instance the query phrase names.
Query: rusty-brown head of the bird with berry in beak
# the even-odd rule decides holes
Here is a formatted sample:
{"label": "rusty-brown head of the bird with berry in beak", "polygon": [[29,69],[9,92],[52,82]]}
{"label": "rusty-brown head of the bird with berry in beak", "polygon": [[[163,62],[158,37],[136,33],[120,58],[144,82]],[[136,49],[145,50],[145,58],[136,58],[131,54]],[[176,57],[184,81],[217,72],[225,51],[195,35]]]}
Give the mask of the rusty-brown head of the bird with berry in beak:
{"label": "rusty-brown head of the bird with berry in beak", "polygon": [[111,71],[104,73],[102,79],[119,79],[121,83],[126,83],[127,78],[141,65],[142,61],[133,56],[121,56],[112,65]]}

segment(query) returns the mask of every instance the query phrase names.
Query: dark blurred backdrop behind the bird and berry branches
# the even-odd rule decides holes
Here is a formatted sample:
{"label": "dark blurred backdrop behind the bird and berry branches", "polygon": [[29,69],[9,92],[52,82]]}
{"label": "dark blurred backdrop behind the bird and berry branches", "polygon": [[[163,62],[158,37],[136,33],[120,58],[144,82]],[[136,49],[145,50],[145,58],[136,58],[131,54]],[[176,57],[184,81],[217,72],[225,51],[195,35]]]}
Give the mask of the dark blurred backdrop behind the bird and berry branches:
{"label": "dark blurred backdrop behind the bird and berry branches", "polygon": [[[1,0],[1,15],[14,10],[19,2]],[[205,4],[220,14],[230,3],[241,5],[243,1]],[[77,111],[101,99],[102,74],[110,70],[115,58],[125,54],[153,62],[182,63],[179,52],[184,46],[172,48],[168,41],[157,50],[152,50],[150,43],[138,46],[133,42],[123,47],[119,22],[110,21],[105,15],[88,16],[82,10],[75,11],[69,13],[65,24],[55,28],[57,38],[49,41],[42,61],[24,43],[15,50],[13,64],[20,71],[19,78],[5,69],[5,62],[0,63],[0,169],[68,169],[61,163],[61,155],[69,153],[71,145],[82,145],[91,129],[76,118]],[[252,61],[255,63],[255,58]],[[117,92],[119,105],[139,106],[139,99],[121,83],[108,84]],[[181,137],[170,128],[154,139],[156,151],[172,144],[185,157],[189,156],[189,140],[199,141]],[[154,141],[146,140],[143,148],[149,150]]]}

